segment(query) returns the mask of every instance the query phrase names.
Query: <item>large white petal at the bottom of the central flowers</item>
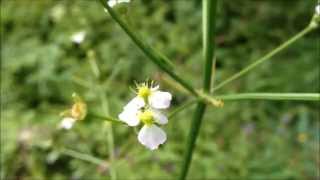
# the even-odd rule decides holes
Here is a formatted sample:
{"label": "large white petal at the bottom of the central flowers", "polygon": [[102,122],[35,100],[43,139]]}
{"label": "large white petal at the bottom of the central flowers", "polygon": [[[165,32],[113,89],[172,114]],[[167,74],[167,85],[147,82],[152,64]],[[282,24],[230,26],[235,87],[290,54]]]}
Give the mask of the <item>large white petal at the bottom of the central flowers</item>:
{"label": "large white petal at the bottom of the central flowers", "polygon": [[139,131],[138,140],[150,150],[155,150],[167,140],[167,135],[156,125],[144,125]]}

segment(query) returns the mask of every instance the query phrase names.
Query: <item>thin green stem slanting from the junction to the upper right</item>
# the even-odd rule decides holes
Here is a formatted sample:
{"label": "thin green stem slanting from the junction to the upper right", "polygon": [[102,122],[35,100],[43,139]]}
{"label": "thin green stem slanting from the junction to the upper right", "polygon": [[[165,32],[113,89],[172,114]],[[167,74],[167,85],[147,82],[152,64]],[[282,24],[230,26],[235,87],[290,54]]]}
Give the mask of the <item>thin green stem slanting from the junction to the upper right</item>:
{"label": "thin green stem slanting from the junction to the upper right", "polygon": [[247,66],[246,68],[244,68],[243,70],[241,70],[240,72],[234,74],[233,76],[231,76],[230,78],[224,80],[223,82],[221,82],[220,84],[218,84],[216,87],[214,87],[212,89],[212,91],[216,91],[220,88],[222,88],[224,85],[230,83],[231,81],[239,78],[240,76],[246,74],[247,72],[249,72],[250,70],[252,70],[253,68],[255,68],[256,66],[260,65],[261,63],[267,61],[268,59],[270,59],[271,57],[273,57],[274,55],[276,55],[277,53],[281,52],[282,50],[284,50],[285,48],[287,48],[288,46],[290,46],[292,43],[294,43],[295,41],[297,41],[298,39],[302,38],[304,35],[308,34],[309,32],[311,32],[312,30],[314,30],[315,27],[314,26],[307,26],[306,28],[304,28],[301,32],[299,32],[298,34],[296,34],[295,36],[293,36],[291,39],[289,39],[288,41],[284,42],[283,44],[281,44],[280,46],[278,46],[276,49],[272,50],[271,52],[269,52],[268,54],[264,55],[263,57],[259,58],[258,60],[256,60],[254,63],[250,64],[249,66]]}

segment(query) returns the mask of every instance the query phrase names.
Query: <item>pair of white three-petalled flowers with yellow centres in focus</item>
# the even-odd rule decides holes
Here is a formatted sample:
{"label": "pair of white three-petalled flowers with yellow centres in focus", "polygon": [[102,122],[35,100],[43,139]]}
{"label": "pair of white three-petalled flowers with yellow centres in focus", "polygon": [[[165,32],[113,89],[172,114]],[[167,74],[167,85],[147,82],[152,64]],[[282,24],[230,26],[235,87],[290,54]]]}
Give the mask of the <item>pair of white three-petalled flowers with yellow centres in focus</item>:
{"label": "pair of white three-petalled flowers with yellow centres in focus", "polygon": [[157,125],[168,123],[168,118],[161,112],[170,106],[172,96],[159,90],[159,86],[143,83],[137,86],[137,96],[133,98],[119,114],[119,119],[129,126],[143,127],[138,133],[139,142],[155,150],[167,140],[166,133]]}

